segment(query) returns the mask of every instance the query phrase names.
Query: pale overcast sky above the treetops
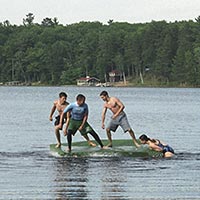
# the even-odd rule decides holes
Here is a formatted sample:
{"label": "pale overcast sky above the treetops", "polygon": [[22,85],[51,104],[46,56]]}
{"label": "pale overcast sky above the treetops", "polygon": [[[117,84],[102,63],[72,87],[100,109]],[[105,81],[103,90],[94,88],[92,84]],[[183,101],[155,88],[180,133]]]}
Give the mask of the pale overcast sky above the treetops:
{"label": "pale overcast sky above the treetops", "polygon": [[80,21],[145,23],[195,20],[200,0],[0,0],[0,22],[23,24],[28,13],[34,22],[57,17],[60,24]]}

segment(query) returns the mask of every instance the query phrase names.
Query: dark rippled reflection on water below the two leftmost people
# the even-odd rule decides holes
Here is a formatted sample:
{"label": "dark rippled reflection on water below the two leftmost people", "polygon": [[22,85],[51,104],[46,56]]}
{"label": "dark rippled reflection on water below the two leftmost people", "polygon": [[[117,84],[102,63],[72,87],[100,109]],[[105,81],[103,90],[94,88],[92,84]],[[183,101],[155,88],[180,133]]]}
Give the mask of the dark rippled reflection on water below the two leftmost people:
{"label": "dark rippled reflection on water below the two leftmost people", "polygon": [[88,181],[87,160],[56,159],[53,168],[56,199],[65,199],[66,197],[85,199],[87,197],[85,186]]}

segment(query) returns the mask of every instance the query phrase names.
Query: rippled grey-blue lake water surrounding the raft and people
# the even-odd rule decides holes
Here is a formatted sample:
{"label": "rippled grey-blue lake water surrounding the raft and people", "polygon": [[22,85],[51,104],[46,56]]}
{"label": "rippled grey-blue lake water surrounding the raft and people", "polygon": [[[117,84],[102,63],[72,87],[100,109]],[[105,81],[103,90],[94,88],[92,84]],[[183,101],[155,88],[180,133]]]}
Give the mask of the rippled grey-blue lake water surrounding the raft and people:
{"label": "rippled grey-blue lake water surrounding the raft and people", "polygon": [[[69,102],[83,93],[90,109],[88,121],[106,139],[101,129],[102,89],[125,104],[136,137],[145,133],[159,138],[176,155],[171,159],[53,156],[49,144],[56,140],[48,118],[59,92],[67,92]],[[0,106],[2,200],[200,199],[200,89],[0,87]],[[113,138],[129,135],[119,128]],[[83,139],[77,133],[73,141]]]}

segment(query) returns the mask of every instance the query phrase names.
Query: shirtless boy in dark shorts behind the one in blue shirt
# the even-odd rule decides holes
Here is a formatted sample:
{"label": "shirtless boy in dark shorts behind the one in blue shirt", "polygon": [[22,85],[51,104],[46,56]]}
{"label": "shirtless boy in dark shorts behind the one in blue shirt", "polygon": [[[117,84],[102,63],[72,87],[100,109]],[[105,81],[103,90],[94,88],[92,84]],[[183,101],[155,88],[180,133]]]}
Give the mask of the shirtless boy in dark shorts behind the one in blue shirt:
{"label": "shirtless boy in dark shorts behind the one in blue shirt", "polygon": [[56,121],[54,123],[54,125],[55,125],[55,135],[56,135],[56,139],[57,139],[56,148],[59,148],[61,146],[60,130],[62,130],[63,124],[66,121],[66,126],[68,126],[68,123],[69,123],[69,116],[67,116],[66,117],[67,120],[66,120],[66,118],[63,118],[61,128],[58,127],[59,122],[60,122],[60,116],[61,116],[63,110],[67,107],[67,105],[69,105],[69,103],[66,100],[67,100],[67,94],[65,92],[61,92],[59,94],[59,99],[54,101],[53,107],[51,109],[51,113],[50,113],[50,116],[49,116],[49,120],[52,121],[53,120],[53,114],[54,114],[55,110],[57,110],[58,113],[59,113],[59,115],[55,117]]}

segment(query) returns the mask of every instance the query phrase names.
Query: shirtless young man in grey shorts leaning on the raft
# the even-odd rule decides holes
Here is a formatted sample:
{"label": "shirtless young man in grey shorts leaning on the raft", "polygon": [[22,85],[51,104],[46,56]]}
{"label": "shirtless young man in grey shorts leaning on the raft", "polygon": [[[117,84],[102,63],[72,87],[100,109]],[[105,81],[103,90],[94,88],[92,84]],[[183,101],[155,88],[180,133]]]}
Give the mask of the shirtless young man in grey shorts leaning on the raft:
{"label": "shirtless young man in grey shorts leaning on the raft", "polygon": [[108,147],[112,147],[112,136],[111,131],[115,132],[118,126],[121,126],[124,132],[129,132],[130,136],[133,139],[134,144],[138,147],[133,130],[131,129],[126,113],[124,112],[124,104],[116,97],[109,97],[107,91],[102,91],[100,97],[105,101],[104,108],[102,111],[102,128],[105,129],[105,116],[107,109],[110,109],[113,113],[111,120],[106,128],[106,133],[108,136],[109,144]]}

